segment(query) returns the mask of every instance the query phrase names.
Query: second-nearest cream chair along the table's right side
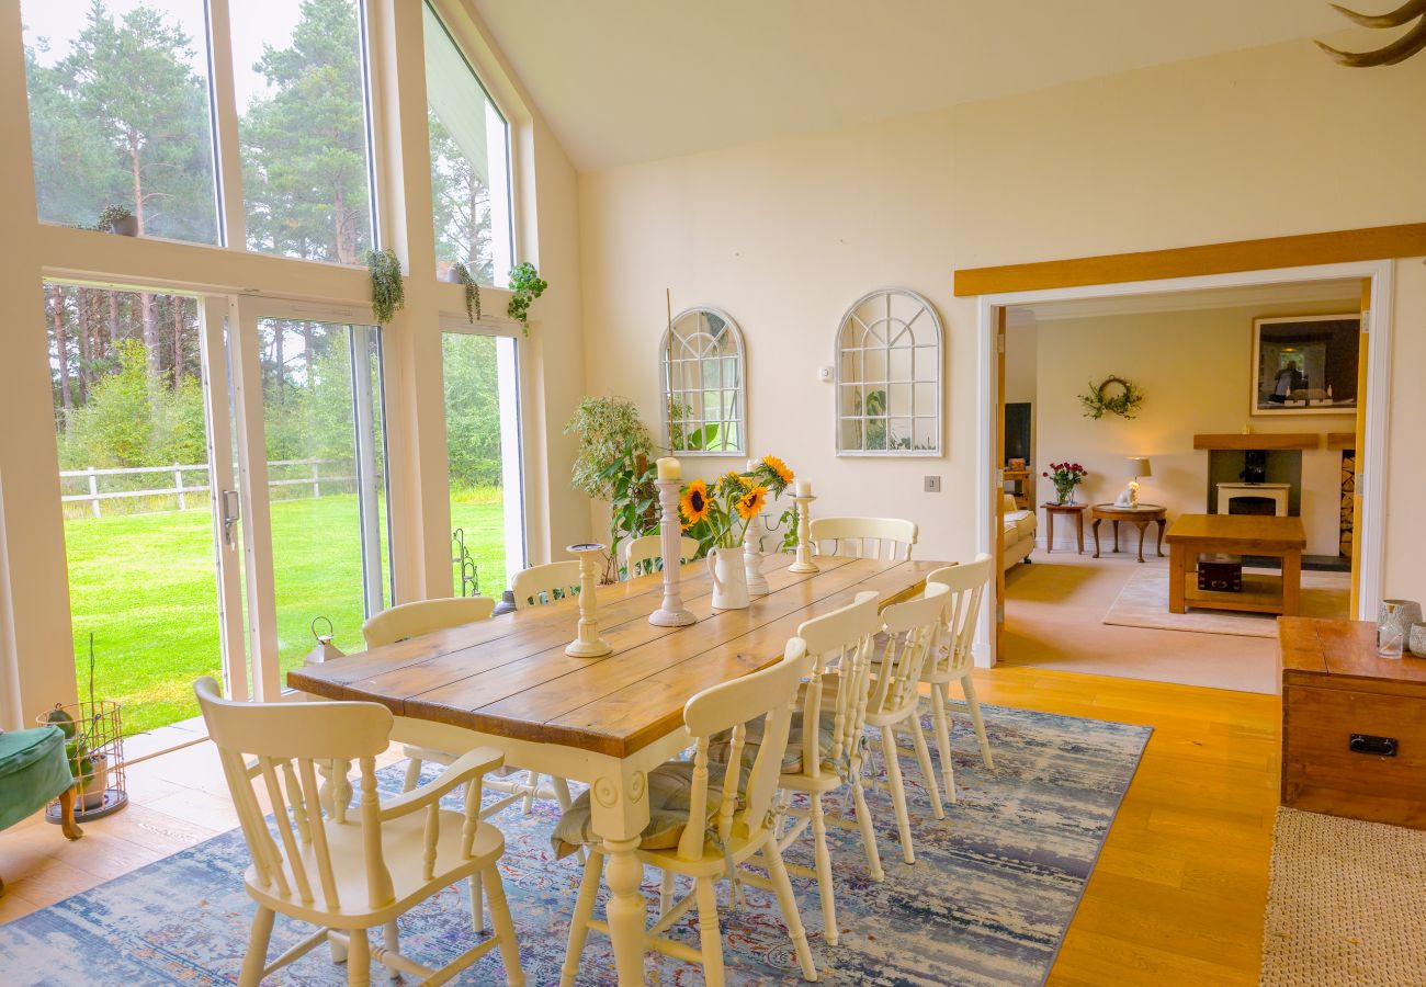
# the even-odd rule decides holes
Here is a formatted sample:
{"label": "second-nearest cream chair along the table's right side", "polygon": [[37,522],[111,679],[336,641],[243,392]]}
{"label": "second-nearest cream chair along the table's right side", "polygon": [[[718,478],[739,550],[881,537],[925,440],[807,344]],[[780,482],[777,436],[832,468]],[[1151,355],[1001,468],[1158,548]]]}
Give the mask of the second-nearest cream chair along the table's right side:
{"label": "second-nearest cream chair along the table's right side", "polygon": [[[811,656],[809,677],[801,689],[799,710],[793,715],[791,739],[783,757],[777,784],[784,793],[783,817],[793,824],[779,833],[780,850],[797,842],[807,827],[813,833],[816,870],[789,864],[787,869],[817,880],[821,896],[823,939],[837,944],[837,903],[831,879],[831,853],[827,849],[827,819],[823,796],[850,789],[856,800],[861,844],[867,853],[871,880],[886,877],[871,812],[863,792],[861,766],[866,732],[867,682],[871,668],[873,638],[881,629],[877,593],[857,593],[854,603],[843,606],[797,628]],[[816,729],[809,729],[816,723]],[[801,792],[807,809],[791,809],[786,793]]]}

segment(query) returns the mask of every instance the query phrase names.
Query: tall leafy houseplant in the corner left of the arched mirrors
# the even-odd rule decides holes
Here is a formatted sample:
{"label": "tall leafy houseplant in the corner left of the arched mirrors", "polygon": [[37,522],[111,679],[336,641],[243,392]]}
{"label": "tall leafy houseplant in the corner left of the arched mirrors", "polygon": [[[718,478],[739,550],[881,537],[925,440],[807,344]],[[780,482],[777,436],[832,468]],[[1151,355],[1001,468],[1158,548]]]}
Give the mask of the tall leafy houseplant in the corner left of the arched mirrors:
{"label": "tall leafy houseplant in the corner left of the arched mirrors", "polygon": [[613,582],[619,578],[619,542],[659,528],[653,439],[627,398],[583,398],[565,425],[565,434],[569,432],[579,434],[570,484],[609,503],[605,582]]}

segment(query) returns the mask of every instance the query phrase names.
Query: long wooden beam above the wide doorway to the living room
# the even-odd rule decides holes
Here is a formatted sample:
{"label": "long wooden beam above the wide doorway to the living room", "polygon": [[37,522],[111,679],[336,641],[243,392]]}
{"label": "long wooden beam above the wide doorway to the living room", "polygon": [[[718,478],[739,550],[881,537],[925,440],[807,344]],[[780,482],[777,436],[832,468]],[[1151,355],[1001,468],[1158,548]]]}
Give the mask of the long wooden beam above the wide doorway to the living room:
{"label": "long wooden beam above the wide doorway to the living room", "polygon": [[961,268],[955,271],[954,281],[957,297],[998,295],[1422,255],[1426,255],[1426,223],[1409,223],[1134,254]]}

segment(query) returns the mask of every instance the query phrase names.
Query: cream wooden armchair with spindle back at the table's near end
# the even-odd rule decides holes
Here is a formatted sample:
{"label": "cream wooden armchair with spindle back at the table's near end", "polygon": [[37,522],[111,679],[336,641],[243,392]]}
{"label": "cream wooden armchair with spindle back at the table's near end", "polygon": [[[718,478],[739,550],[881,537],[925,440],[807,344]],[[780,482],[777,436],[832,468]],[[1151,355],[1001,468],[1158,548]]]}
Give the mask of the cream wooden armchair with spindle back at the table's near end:
{"label": "cream wooden armchair with spindle back at the table's near end", "polygon": [[[218,747],[242,834],[252,854],[244,874],[258,904],[238,983],[255,984],[322,943],[347,954],[347,983],[368,984],[371,958],[392,973],[441,984],[499,947],[506,978],[523,984],[515,926],[496,861],[505,853],[498,829],[476,819],[481,779],[501,764],[499,752],[481,747],[463,755],[436,782],[386,803],[376,796],[376,755],[391,737],[391,710],[376,703],[242,703],[224,700],[210,677],[194,683],[208,735]],[[245,757],[254,757],[251,763]],[[318,772],[345,773],[358,762],[361,797],[355,809],[322,809]],[[255,786],[272,804],[262,817]],[[468,786],[466,807],[455,813],[439,800]],[[349,819],[355,814],[356,819]],[[329,817],[328,817],[329,816]],[[277,839],[272,837],[277,830]],[[491,896],[495,936],[466,950],[441,970],[398,951],[396,917],[462,879],[482,874]],[[318,930],[267,961],[277,913]],[[366,930],[382,927],[374,947]]]}

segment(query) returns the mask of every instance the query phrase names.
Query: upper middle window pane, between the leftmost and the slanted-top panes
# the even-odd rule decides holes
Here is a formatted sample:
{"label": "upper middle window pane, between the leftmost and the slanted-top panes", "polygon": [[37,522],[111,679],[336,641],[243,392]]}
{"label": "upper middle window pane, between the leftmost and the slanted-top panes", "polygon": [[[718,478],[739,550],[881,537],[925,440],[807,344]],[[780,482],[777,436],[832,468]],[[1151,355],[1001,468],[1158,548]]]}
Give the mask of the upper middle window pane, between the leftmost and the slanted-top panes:
{"label": "upper middle window pane, between the leftmost and the slanted-top panes", "polygon": [[372,245],[358,0],[231,4],[248,248],[361,264]]}

